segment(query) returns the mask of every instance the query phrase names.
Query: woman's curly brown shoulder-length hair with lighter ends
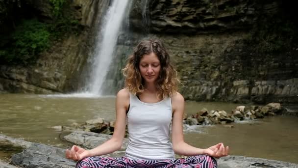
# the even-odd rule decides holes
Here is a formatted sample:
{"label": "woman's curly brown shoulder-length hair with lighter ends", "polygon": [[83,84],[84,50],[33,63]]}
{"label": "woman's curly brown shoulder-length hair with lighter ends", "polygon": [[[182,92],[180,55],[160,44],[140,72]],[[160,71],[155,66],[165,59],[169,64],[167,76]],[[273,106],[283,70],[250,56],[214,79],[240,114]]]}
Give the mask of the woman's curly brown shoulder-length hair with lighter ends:
{"label": "woman's curly brown shoulder-length hair with lighter ends", "polygon": [[134,49],[133,55],[128,57],[127,64],[123,69],[125,76],[125,88],[134,95],[139,95],[144,91],[144,82],[142,78],[139,63],[143,56],[154,53],[161,65],[159,78],[156,81],[157,97],[164,99],[176,94],[177,71],[170,62],[170,56],[162,42],[158,39],[149,39],[141,41]]}

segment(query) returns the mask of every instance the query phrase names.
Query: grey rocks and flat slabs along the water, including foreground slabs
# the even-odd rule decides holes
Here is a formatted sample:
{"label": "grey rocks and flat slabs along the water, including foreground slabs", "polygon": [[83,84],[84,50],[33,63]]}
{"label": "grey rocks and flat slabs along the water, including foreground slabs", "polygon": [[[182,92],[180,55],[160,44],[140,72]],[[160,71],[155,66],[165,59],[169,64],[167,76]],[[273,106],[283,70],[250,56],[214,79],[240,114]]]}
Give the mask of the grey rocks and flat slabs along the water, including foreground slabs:
{"label": "grey rocks and flat slabs along the water, including foreground slabs", "polygon": [[[285,110],[286,108],[279,103],[269,103],[265,106],[238,106],[228,113],[221,110],[208,111],[203,108],[196,114],[185,114],[183,123],[184,125],[222,124],[232,127],[229,123],[283,114]],[[65,148],[69,148],[73,144],[86,149],[94,148],[111,138],[114,124],[114,121],[96,118],[85,123],[52,127],[61,131],[59,136],[61,140],[69,143],[69,146],[64,146],[64,148],[15,139],[0,134],[1,146],[13,146],[12,149],[18,149],[9,159],[1,160],[0,158],[0,168],[74,168],[75,162],[65,158]],[[122,148],[119,151],[104,155],[104,157],[124,156],[127,144],[128,139],[124,138]],[[181,156],[176,155],[176,157]],[[219,168],[298,168],[298,164],[294,163],[244,156],[227,156],[217,159],[217,162]]]}

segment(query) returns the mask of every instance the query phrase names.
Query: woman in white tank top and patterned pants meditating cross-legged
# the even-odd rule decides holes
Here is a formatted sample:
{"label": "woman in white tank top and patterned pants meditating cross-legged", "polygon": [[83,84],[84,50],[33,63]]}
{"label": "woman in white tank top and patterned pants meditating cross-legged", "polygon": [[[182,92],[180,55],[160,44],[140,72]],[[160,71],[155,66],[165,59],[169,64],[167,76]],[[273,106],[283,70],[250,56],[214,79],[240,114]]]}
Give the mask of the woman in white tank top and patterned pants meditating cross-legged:
{"label": "woman in white tank top and patterned pants meditating cross-legged", "polygon": [[[123,71],[125,88],[117,93],[114,134],[94,149],[74,145],[67,150],[68,159],[79,161],[76,168],[217,168],[213,157],[227,156],[228,146],[200,149],[184,141],[184,98],[177,92],[177,73],[163,44],[157,39],[140,42]],[[125,156],[99,157],[121,148],[126,120]],[[189,157],[174,159],[174,153]]]}

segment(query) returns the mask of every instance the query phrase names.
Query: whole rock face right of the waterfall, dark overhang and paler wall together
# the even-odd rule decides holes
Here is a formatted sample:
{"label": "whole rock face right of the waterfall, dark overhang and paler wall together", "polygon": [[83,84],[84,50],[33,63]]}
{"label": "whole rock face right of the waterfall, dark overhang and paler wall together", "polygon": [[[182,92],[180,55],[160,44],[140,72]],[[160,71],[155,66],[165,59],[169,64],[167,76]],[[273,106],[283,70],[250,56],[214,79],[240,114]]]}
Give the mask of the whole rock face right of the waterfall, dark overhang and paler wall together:
{"label": "whole rock face right of the waterfall, dark overhang and paler wall together", "polygon": [[297,45],[277,54],[255,52],[247,43],[262,16],[290,13],[281,12],[285,8],[280,1],[147,2],[145,7],[141,2],[134,3],[131,26],[140,33],[147,28],[151,32],[148,37],[164,41],[181,77],[179,91],[185,99],[298,102]]}

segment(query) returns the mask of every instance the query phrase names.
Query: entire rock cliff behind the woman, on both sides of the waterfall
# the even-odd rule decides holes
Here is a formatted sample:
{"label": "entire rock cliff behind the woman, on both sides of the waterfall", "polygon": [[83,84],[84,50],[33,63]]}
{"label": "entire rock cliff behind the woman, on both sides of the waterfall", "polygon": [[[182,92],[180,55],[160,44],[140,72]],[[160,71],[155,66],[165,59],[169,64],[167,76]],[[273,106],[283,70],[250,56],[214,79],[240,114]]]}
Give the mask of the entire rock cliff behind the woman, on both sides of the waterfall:
{"label": "entire rock cliff behind the woman, on both sides of the waterfall", "polygon": [[[28,3],[50,20],[48,0]],[[1,18],[3,4],[0,1]],[[84,83],[81,72],[88,69],[95,18],[108,5],[73,0],[71,10],[84,31],[58,41],[35,65],[1,65],[0,90],[77,90]],[[298,21],[293,13],[293,4],[281,0],[135,0],[125,23],[129,31],[119,37],[118,67],[109,72],[113,78],[107,83],[123,87],[120,69],[132,47],[142,38],[157,37],[171,53],[183,84],[180,92],[188,100],[297,103]]]}

